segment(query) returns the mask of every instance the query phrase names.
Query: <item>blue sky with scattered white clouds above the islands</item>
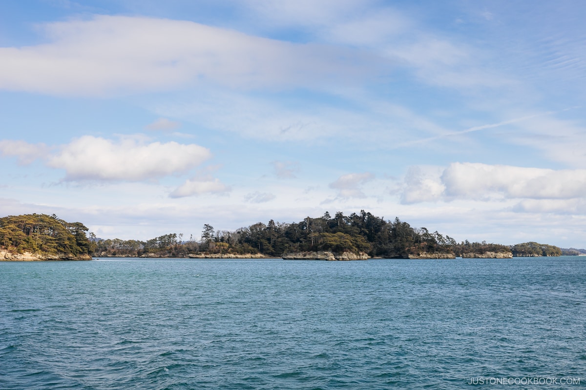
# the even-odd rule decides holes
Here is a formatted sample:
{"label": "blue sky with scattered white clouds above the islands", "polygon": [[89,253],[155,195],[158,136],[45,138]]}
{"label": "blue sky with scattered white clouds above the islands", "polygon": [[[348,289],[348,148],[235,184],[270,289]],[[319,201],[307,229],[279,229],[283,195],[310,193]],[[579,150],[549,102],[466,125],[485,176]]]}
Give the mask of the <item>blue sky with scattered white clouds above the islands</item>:
{"label": "blue sky with scattered white clouds above the islands", "polygon": [[4,0],[0,215],[199,237],[364,209],[586,247],[586,4]]}

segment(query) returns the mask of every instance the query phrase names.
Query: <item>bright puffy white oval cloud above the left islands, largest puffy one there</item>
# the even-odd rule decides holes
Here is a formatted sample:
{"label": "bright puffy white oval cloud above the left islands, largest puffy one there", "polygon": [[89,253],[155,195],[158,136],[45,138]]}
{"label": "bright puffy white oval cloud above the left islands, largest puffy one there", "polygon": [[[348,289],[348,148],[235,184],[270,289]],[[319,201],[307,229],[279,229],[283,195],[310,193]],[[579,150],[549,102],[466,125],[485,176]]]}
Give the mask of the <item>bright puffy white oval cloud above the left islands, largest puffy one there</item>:
{"label": "bright puffy white oval cloud above the left islands, largest puffy one there", "polygon": [[196,144],[83,136],[63,145],[47,165],[64,169],[66,181],[141,181],[188,171],[211,156]]}

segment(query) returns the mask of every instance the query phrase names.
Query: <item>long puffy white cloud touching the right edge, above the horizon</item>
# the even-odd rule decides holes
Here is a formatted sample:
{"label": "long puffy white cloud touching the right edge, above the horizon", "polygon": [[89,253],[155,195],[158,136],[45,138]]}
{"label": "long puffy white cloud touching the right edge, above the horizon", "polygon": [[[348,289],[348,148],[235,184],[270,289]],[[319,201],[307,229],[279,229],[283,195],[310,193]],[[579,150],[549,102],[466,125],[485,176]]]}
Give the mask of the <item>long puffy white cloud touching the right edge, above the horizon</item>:
{"label": "long puffy white cloud touching the right edge, above the horizon", "polygon": [[[410,169],[405,178],[401,201],[418,203],[456,199],[580,199],[585,194],[586,170],[452,163],[444,170],[431,173]],[[525,202],[523,207],[532,209],[537,204]]]}

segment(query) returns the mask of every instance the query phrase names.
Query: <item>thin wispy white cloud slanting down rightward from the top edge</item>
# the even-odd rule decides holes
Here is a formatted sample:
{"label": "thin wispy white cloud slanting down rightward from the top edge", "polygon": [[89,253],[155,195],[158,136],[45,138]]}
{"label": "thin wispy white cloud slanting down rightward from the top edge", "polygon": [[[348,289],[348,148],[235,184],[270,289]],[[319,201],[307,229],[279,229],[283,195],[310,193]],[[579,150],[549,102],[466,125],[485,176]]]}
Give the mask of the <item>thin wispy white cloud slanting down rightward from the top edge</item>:
{"label": "thin wispy white cloud slanting down rightward from the top edge", "polygon": [[486,51],[442,37],[380,2],[265,0],[247,4],[268,25],[302,28],[317,42],[357,47],[387,70],[391,64],[403,65],[428,84],[469,90],[513,82],[483,67]]}

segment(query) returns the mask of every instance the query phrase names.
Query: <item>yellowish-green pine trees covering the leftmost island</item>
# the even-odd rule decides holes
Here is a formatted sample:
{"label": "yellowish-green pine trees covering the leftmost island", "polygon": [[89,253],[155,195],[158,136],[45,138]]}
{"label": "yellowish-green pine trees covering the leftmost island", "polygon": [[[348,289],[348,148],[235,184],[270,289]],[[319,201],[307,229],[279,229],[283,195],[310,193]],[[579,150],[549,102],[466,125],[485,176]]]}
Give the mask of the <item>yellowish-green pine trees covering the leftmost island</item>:
{"label": "yellowish-green pine trees covering the leftmost island", "polygon": [[87,239],[87,230],[54,214],[7,216],[0,218],[0,246],[18,253],[91,255],[95,244]]}

